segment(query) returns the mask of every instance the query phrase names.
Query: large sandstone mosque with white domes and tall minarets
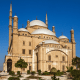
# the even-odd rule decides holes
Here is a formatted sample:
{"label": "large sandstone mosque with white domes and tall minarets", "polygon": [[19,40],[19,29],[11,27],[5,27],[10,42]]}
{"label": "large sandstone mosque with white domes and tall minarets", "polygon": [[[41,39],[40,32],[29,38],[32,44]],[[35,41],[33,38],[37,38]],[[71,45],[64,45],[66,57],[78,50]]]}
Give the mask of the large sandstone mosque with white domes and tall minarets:
{"label": "large sandstone mosque with white domes and tall minarets", "polygon": [[18,29],[18,17],[16,15],[12,17],[12,4],[10,4],[9,47],[3,71],[21,71],[15,67],[20,58],[28,63],[27,68],[23,68],[23,73],[27,70],[50,71],[52,67],[66,71],[66,66],[72,66],[72,59],[76,56],[74,30],[72,29],[70,33],[69,41],[64,35],[57,37],[54,26],[50,31],[47,13],[45,23],[37,19],[31,22],[28,20],[25,28]]}

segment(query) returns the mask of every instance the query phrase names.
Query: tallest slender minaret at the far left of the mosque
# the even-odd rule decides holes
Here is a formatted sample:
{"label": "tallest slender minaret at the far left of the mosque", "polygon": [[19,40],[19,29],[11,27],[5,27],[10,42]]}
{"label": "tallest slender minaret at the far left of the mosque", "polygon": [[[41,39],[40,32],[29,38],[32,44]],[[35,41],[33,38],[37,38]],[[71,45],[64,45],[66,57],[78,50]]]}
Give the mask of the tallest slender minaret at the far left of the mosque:
{"label": "tallest slender minaret at the far left of the mosque", "polygon": [[11,43],[11,34],[12,34],[12,3],[10,4],[10,12],[9,12],[9,46]]}

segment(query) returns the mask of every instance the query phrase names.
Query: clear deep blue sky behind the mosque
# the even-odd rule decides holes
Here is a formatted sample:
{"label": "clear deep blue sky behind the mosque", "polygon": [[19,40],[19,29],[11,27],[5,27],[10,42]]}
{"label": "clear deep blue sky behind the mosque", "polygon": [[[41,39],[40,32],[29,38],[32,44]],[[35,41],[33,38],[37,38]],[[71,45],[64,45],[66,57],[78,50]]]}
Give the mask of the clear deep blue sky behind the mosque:
{"label": "clear deep blue sky behind the mosque", "polygon": [[56,36],[63,35],[69,39],[71,28],[74,29],[76,55],[80,57],[80,0],[0,0],[0,70],[8,50],[9,9],[12,1],[13,16],[18,16],[18,28],[27,25],[27,20],[45,22],[48,15],[48,28],[55,26]]}

